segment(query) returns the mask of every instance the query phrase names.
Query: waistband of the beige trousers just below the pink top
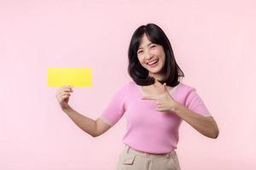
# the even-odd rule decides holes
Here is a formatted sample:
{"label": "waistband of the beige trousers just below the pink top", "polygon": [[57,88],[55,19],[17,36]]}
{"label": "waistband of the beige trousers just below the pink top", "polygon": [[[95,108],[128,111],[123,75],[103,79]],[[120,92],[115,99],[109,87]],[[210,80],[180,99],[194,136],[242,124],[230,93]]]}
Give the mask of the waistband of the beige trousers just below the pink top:
{"label": "waistband of the beige trousers just below the pink top", "polygon": [[153,153],[147,153],[147,152],[143,152],[143,151],[139,151],[139,150],[134,150],[131,148],[131,146],[126,145],[126,144],[125,144],[124,151],[126,153],[131,153],[133,155],[152,157],[152,158],[163,158],[163,157],[169,158],[170,156],[172,156],[172,157],[176,156],[175,150],[172,150],[171,152],[166,153],[166,154],[153,154]]}

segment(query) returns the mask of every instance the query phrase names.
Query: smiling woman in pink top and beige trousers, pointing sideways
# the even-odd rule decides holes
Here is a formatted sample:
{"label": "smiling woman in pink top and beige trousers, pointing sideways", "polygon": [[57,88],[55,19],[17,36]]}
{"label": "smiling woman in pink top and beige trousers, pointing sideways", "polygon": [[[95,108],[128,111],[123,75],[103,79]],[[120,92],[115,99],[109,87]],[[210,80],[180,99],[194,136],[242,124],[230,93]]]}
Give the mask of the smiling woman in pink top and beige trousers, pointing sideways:
{"label": "smiling woman in pink top and beige trousers, pointing sideways", "polygon": [[118,170],[180,169],[175,150],[181,122],[188,122],[212,139],[218,137],[217,123],[195,88],[179,81],[183,71],[159,26],[138,27],[131,37],[128,56],[133,81],[119,88],[96,120],[68,105],[71,86],[61,87],[56,93],[61,109],[93,137],[105,133],[125,116],[125,147],[119,155]]}

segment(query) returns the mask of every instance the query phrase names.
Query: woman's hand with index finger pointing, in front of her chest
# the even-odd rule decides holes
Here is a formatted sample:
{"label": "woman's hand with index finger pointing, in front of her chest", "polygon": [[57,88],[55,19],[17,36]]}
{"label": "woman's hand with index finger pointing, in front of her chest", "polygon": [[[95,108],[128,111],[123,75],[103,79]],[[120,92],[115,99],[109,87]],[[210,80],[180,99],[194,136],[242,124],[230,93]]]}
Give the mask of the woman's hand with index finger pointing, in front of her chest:
{"label": "woman's hand with index finger pointing, in front of her chest", "polygon": [[143,99],[154,99],[156,101],[157,111],[175,111],[177,101],[175,101],[169,94],[166,82],[163,85],[160,84],[158,88],[161,88],[164,93],[160,95],[143,96]]}

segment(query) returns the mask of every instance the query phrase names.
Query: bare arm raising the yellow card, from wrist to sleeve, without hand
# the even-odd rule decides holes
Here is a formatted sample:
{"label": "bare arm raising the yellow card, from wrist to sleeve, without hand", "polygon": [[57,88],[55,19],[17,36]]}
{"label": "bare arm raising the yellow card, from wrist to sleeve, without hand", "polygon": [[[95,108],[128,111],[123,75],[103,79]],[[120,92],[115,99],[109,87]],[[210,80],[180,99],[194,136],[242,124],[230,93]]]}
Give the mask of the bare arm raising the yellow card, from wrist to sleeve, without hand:
{"label": "bare arm raising the yellow card, from wrist to sleeve, without hand", "polygon": [[67,113],[67,116],[69,116],[76,125],[78,125],[85,133],[89,133],[92,137],[97,137],[108,131],[110,128],[110,126],[100,118],[97,118],[95,121],[90,119],[90,117],[79,114],[79,112],[73,110],[70,106],[62,109],[62,111]]}

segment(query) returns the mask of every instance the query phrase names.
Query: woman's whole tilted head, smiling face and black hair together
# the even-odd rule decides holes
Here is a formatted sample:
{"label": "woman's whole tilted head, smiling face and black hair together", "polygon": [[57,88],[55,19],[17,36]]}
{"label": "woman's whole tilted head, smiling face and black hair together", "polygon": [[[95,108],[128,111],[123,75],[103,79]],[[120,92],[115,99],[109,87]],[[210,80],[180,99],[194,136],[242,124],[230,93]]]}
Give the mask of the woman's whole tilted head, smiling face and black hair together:
{"label": "woman's whole tilted head, smiling face and black hair together", "polygon": [[155,24],[140,26],[131,37],[128,72],[139,85],[154,84],[154,79],[174,87],[184,77],[164,31]]}

